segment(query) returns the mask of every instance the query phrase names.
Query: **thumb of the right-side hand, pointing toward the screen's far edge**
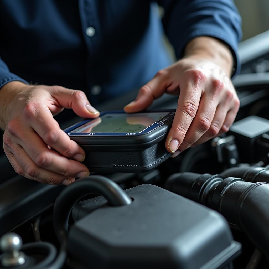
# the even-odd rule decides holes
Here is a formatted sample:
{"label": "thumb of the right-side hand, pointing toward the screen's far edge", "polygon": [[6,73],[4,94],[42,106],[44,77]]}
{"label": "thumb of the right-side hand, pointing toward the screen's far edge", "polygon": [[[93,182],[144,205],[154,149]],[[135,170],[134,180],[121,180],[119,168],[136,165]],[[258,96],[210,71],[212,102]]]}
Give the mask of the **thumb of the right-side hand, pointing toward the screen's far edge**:
{"label": "thumb of the right-side hand, pointing toward the screen's far edge", "polygon": [[136,99],[124,107],[125,112],[134,113],[148,108],[154,99],[165,92],[168,84],[167,71],[160,70],[152,80],[139,90]]}

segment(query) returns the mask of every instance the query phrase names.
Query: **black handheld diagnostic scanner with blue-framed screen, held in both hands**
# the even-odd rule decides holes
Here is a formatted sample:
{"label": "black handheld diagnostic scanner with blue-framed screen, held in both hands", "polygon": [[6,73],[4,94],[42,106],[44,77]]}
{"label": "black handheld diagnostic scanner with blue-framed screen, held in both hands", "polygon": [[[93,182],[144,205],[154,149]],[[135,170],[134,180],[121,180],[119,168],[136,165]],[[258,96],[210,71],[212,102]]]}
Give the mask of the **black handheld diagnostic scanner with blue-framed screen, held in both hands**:
{"label": "black handheld diagnostic scanner with blue-framed screen, held in both hands", "polygon": [[169,158],[165,139],[175,110],[105,111],[65,129],[86,152],[91,172],[145,172]]}

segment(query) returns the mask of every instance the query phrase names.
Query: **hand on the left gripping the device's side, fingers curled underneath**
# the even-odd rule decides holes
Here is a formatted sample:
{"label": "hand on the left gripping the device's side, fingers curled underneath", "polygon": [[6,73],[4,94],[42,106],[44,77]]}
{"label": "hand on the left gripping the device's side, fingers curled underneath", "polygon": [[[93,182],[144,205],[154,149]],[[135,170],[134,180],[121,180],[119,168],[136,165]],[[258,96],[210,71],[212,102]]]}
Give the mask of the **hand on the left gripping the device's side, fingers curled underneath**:
{"label": "hand on the left gripping the device's side, fingers curled underneath", "polygon": [[19,175],[52,185],[69,185],[75,177],[89,175],[89,169],[80,163],[84,150],[53,118],[64,108],[83,118],[98,117],[85,93],[13,81],[0,89],[0,105],[3,148]]}

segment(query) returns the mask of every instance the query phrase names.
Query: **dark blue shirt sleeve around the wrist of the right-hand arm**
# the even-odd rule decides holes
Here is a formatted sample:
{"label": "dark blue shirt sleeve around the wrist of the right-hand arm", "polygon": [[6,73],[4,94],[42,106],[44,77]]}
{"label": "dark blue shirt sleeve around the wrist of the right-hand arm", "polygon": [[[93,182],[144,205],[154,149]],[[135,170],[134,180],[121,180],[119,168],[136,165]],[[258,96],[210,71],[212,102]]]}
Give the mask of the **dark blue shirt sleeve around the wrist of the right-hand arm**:
{"label": "dark blue shirt sleeve around the wrist of the right-hand arm", "polygon": [[231,50],[234,72],[240,72],[238,42],[242,38],[241,17],[232,0],[159,1],[164,7],[164,30],[181,58],[187,43],[198,36],[218,38]]}

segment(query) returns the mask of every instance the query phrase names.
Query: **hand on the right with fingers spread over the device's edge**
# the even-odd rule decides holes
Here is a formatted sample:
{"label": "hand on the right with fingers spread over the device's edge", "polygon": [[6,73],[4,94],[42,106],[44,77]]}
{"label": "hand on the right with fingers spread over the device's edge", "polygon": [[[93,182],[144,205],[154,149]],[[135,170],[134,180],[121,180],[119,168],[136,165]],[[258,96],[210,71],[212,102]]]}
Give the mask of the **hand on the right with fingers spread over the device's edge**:
{"label": "hand on the right with fingers spread over the device's edge", "polygon": [[166,148],[171,153],[227,132],[238,112],[239,99],[229,78],[232,61],[227,64],[210,54],[194,49],[182,60],[160,70],[140,89],[136,100],[124,108],[128,113],[138,112],[165,92],[180,93],[166,140]]}

